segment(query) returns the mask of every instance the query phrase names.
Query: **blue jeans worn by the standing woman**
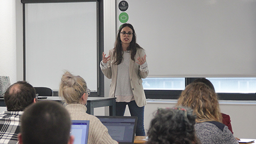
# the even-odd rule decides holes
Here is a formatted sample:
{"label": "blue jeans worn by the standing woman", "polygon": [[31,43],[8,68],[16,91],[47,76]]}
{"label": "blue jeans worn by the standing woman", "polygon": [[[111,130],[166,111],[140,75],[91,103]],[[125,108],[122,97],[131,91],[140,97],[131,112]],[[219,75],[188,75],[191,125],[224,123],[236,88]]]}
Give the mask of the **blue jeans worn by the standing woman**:
{"label": "blue jeans worn by the standing woman", "polygon": [[135,100],[131,102],[116,102],[116,116],[124,116],[126,105],[128,105],[131,116],[137,116],[136,135],[145,136],[144,129],[144,106],[138,107]]}

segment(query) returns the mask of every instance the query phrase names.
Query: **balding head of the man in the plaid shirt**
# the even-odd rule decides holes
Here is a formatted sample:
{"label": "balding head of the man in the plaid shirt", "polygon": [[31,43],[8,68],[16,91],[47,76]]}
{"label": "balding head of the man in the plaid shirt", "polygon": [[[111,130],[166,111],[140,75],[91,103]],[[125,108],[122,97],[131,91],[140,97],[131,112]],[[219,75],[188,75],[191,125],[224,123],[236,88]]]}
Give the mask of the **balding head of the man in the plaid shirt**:
{"label": "balding head of the man in the plaid shirt", "polygon": [[4,102],[8,111],[23,111],[36,101],[36,91],[25,81],[12,84],[4,93]]}

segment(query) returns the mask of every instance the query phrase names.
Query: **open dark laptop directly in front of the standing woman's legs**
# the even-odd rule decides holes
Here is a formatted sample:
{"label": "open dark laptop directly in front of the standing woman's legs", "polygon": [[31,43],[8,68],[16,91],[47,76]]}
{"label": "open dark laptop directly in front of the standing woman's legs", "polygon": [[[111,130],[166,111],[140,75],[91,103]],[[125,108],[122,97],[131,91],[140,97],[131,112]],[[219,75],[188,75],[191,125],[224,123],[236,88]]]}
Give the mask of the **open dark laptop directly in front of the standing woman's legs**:
{"label": "open dark laptop directly in front of the standing woman's legs", "polygon": [[137,126],[135,116],[97,116],[108,129],[110,137],[119,144],[132,144]]}

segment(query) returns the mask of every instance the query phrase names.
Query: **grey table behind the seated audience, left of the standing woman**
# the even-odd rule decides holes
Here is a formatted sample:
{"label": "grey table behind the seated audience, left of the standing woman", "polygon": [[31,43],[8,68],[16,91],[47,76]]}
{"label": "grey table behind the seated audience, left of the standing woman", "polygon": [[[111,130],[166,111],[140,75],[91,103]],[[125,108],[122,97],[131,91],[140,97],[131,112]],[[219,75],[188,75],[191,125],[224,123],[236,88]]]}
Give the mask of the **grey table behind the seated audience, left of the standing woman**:
{"label": "grey table behind the seated audience, left of the standing woman", "polygon": [[[61,97],[47,97],[47,99],[38,99],[38,101],[53,100],[62,102]],[[105,97],[88,97],[87,99],[87,114],[94,114],[94,108],[109,106],[109,115],[116,116],[116,98]],[[4,99],[0,99],[0,107],[5,107]]]}

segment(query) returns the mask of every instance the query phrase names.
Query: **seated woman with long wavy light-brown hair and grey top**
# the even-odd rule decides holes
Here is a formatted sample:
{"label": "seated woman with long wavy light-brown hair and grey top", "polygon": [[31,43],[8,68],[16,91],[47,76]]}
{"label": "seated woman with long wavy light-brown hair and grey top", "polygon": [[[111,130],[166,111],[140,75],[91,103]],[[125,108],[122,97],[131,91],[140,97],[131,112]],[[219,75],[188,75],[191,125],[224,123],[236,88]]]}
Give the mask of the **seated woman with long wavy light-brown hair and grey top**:
{"label": "seated woman with long wavy light-brown hair and grey top", "polygon": [[182,91],[178,106],[190,107],[196,114],[196,134],[203,144],[237,143],[235,137],[222,124],[218,95],[204,83],[191,83]]}

